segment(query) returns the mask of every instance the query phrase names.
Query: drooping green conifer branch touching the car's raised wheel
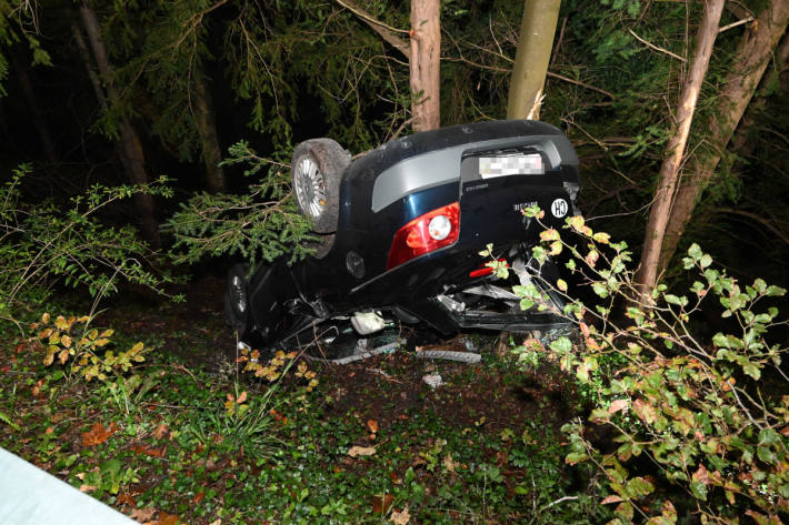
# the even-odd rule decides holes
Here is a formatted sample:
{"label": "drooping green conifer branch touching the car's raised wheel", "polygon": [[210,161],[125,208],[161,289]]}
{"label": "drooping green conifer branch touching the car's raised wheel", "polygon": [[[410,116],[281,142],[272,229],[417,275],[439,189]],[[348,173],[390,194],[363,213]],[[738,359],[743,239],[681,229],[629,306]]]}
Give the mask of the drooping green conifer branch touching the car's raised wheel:
{"label": "drooping green conifer branch touching the car's raised wheel", "polygon": [[[301,216],[290,191],[290,154],[258,157],[247,142],[230,148],[222,164],[248,164],[243,174],[259,176],[241,195],[198,193],[167,222],[174,238],[171,256],[193,263],[207,256],[242,255],[250,263],[288,255],[298,261],[310,253],[304,241],[311,225]],[[267,170],[266,170],[267,169]]]}

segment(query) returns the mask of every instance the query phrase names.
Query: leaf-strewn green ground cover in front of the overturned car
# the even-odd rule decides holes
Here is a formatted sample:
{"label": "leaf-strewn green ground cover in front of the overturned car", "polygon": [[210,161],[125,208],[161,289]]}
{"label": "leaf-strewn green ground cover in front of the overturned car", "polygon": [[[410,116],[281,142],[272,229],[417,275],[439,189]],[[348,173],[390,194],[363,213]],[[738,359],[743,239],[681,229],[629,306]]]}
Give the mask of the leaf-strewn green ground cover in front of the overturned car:
{"label": "leaf-strewn green ground cover in front of the overturned car", "polygon": [[[510,357],[483,356],[308,363],[320,381],[308,391],[296,366],[270,384],[170,347],[124,388],[68,378],[6,342],[0,446],[162,525],[607,521],[597,479],[562,461],[571,390],[557,395]],[[428,372],[445,386],[423,384]],[[350,455],[354,446],[374,452]]]}

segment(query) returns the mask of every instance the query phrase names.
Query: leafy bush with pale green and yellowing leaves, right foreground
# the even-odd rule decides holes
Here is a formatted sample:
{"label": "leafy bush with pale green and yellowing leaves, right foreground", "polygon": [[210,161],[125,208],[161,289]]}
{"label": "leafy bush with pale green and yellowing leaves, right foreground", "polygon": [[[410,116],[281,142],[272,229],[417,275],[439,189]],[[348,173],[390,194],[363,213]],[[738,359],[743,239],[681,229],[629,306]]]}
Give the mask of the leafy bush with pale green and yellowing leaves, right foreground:
{"label": "leafy bush with pale green and yellowing leaves, right foreground", "polygon": [[[601,503],[616,506],[611,523],[786,523],[789,378],[781,360],[789,349],[776,342],[789,324],[776,307],[786,291],[760,279],[738,282],[693,244],[683,260],[688,293],[660,284],[642,294],[625,243],[595,233],[581,216],[565,229],[543,231],[533,255],[569,252],[568,270],[598,301],[588,307],[568,295],[567,282],[556,283],[567,300],[558,313],[578,323],[580,340],[560,337],[545,357],[591,391],[588,417],[563,428],[566,462],[590,462],[605,474],[611,495]],[[516,293],[526,306],[556,309],[539,286]],[[711,331],[702,309],[720,312]]]}

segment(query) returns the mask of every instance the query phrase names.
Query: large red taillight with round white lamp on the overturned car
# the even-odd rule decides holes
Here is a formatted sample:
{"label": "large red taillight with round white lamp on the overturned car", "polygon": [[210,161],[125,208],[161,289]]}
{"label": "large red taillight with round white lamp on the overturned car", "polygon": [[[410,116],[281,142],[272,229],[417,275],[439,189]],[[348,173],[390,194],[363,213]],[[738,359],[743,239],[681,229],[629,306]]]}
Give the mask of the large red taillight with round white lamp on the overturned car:
{"label": "large red taillight with round white lamp on the overturned car", "polygon": [[460,233],[460,204],[453,202],[420,215],[398,230],[389,250],[387,270],[419,255],[448,246]]}

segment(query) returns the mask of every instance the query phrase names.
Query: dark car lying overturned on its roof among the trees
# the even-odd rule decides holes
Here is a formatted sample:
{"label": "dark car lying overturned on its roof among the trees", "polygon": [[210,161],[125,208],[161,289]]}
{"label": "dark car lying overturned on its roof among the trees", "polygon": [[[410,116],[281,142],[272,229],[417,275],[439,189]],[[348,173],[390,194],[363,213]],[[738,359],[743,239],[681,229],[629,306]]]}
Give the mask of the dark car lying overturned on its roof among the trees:
{"label": "dark car lying overturned on its roof among the trees", "polygon": [[[226,313],[243,344],[270,347],[310,340],[326,322],[360,334],[387,322],[527,331],[556,325],[550,313],[521,311],[497,280],[490,256],[515,284],[538,274],[530,248],[541,228],[521,213],[545,210],[549,225],[577,213],[578,158],[567,138],[536,121],[489,121],[416,133],[351,161],[330,139],[296,148],[291,165],[299,211],[321,239],[313,256],[261,264],[248,281],[231,269]],[[539,281],[543,281],[540,279]],[[557,302],[559,299],[556,297]]]}

